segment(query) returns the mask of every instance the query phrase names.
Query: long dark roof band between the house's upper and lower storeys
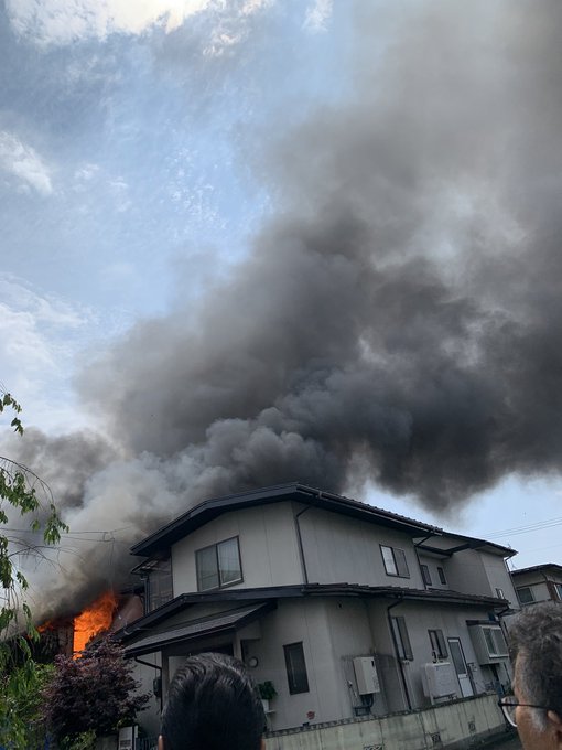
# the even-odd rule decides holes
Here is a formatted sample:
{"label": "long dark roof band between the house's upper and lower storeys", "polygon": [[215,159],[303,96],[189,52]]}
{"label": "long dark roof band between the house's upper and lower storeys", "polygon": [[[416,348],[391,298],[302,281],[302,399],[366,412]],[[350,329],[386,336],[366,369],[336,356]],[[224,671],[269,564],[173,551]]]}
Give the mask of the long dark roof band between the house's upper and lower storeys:
{"label": "long dark roof band between the house's upper and lower storeys", "polygon": [[[295,586],[271,586],[267,588],[253,589],[226,589],[205,592],[181,593],[171,601],[162,604],[149,614],[132,622],[127,628],[115,633],[121,641],[127,642],[149,629],[160,623],[164,623],[170,617],[181,611],[201,604],[203,602],[251,602],[252,607],[262,607],[267,602],[277,602],[279,599],[301,598],[301,597],[358,597],[364,599],[403,599],[408,601],[425,601],[442,604],[462,604],[466,607],[485,607],[488,609],[506,610],[509,602],[497,597],[483,597],[473,593],[462,593],[450,589],[408,589],[397,586],[360,586],[356,583],[307,583]],[[261,614],[261,611],[259,612]],[[213,615],[219,617],[219,615]],[[212,622],[213,618],[209,618]],[[198,621],[193,621],[198,622]],[[191,625],[192,623],[190,623]],[[244,623],[246,624],[246,622]],[[209,625],[212,628],[214,625]],[[175,632],[175,631],[170,631]],[[215,632],[215,631],[210,631]],[[206,632],[198,632],[197,638]],[[162,634],[160,634],[162,635]],[[160,636],[159,636],[160,638]],[[192,636],[192,638],[195,638]],[[144,641],[143,641],[144,642]],[[132,644],[131,647],[137,644]],[[129,653],[129,652],[128,652]],[[148,652],[145,652],[148,653]]]}

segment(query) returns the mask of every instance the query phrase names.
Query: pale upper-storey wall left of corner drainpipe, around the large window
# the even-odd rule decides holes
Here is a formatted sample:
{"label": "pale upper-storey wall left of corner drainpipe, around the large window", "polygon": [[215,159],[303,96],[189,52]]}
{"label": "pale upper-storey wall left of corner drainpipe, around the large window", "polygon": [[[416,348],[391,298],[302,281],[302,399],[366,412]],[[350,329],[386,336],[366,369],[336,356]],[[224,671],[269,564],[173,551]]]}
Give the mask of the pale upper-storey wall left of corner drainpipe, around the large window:
{"label": "pale upper-storey wall left of corner drainpipe, around the large window", "polygon": [[172,547],[174,597],[197,590],[195,551],[237,536],[244,580],[228,588],[302,583],[303,575],[290,503],[225,513]]}

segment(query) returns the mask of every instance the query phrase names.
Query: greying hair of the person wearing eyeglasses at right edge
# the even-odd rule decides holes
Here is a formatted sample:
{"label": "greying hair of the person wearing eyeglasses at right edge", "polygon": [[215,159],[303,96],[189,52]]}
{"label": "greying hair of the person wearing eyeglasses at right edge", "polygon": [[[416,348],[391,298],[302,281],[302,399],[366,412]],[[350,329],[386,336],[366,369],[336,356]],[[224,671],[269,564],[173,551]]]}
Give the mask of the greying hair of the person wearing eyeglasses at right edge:
{"label": "greying hair of the person wearing eyeglasses at right edge", "polygon": [[509,625],[517,686],[529,703],[562,717],[562,604],[544,602],[520,612]]}

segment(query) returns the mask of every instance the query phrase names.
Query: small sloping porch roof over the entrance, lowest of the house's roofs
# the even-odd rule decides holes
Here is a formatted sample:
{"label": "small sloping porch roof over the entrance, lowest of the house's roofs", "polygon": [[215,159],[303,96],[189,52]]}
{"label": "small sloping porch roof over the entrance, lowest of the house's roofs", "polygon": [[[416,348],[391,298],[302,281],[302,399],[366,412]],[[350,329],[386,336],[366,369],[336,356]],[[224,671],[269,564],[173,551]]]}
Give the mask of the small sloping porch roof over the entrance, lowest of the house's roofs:
{"label": "small sloping porch roof over the entrance, lowest of the house's roofs", "polygon": [[253,620],[257,620],[261,614],[273,608],[274,602],[266,602],[241,607],[227,612],[220,612],[219,614],[212,614],[206,618],[201,618],[199,620],[194,620],[181,628],[174,628],[161,633],[152,633],[151,635],[132,643],[130,646],[127,646],[125,652],[127,656],[141,656],[142,654],[150,654],[153,651],[159,651],[173,643],[186,643],[204,635],[217,635],[218,633],[233,632],[253,622]]}

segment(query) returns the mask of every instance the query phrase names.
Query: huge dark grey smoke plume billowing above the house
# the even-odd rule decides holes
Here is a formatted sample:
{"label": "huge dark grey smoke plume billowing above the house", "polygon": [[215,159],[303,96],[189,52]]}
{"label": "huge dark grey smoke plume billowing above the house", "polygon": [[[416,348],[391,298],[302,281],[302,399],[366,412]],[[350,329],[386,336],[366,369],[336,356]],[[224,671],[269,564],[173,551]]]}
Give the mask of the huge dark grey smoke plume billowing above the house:
{"label": "huge dark grey smoke plume billowing above the house", "polygon": [[247,259],[83,373],[119,454],[62,490],[73,529],[293,480],[446,513],[560,473],[562,6],[391,6],[356,8],[346,105],[256,156],[278,211]]}

